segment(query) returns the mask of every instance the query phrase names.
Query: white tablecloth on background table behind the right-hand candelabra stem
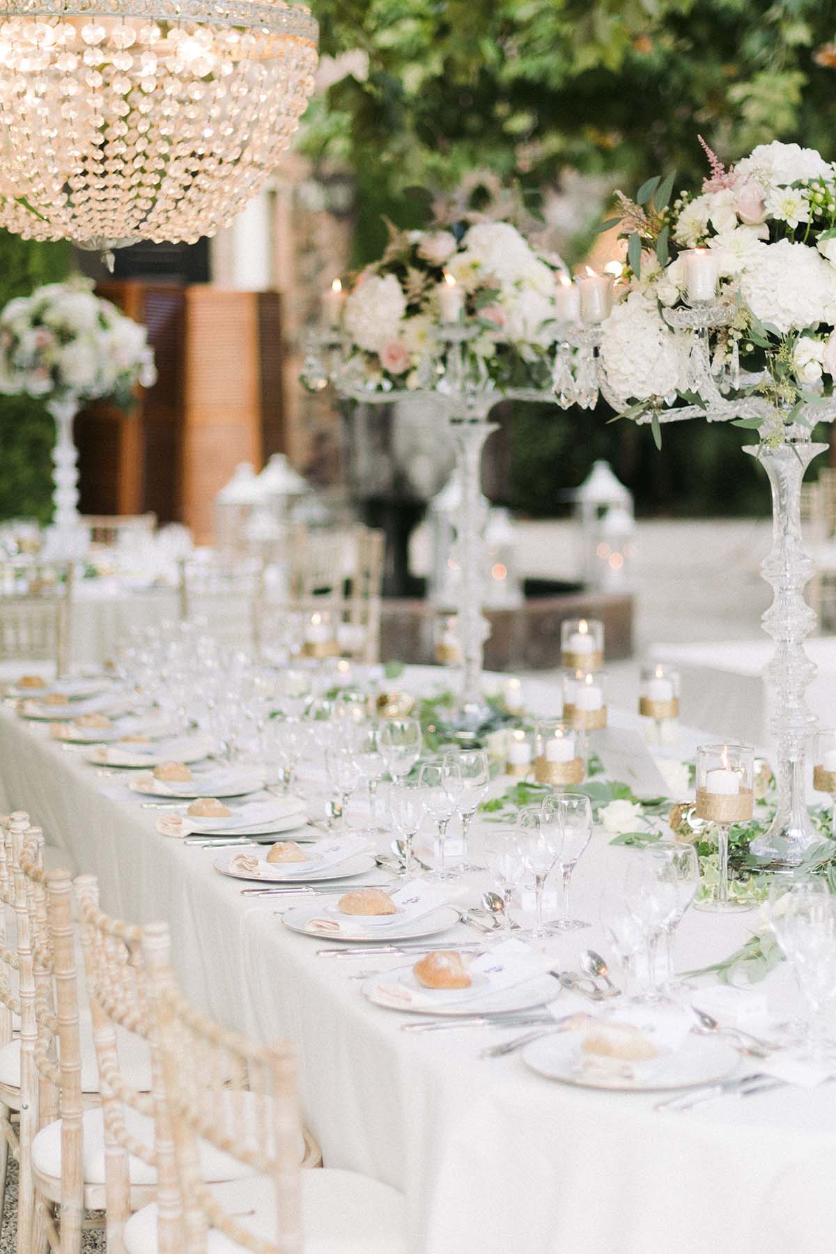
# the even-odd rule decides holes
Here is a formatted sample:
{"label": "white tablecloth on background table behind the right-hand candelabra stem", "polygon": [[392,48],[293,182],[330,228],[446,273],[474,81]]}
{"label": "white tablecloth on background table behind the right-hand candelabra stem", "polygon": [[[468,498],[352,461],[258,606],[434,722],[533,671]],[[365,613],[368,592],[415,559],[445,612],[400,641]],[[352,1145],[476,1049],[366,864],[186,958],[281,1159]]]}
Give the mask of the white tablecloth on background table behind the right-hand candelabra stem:
{"label": "white tablecloth on background table behind the right-hand candelabra stem", "polygon": [[[817,637],[806,651],[818,671],[807,688],[807,705],[822,727],[836,724],[836,638]],[[692,727],[712,727],[721,739],[747,745],[770,744],[768,686],[763,672],[773,642],[723,641],[716,645],[654,645],[651,656],[682,675],[682,717]]]}

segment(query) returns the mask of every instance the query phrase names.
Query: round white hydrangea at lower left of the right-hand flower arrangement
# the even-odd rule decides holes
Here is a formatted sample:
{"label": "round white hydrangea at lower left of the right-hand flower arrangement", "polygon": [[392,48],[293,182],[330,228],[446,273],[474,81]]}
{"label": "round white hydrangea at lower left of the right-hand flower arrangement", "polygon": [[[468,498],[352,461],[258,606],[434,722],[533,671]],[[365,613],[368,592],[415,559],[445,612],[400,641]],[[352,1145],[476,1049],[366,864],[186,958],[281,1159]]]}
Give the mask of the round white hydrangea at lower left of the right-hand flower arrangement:
{"label": "round white hydrangea at lower left of the right-hand flower arrangement", "polygon": [[642,292],[630,292],[603,324],[600,355],[610,387],[623,401],[667,396],[684,382],[687,344]]}

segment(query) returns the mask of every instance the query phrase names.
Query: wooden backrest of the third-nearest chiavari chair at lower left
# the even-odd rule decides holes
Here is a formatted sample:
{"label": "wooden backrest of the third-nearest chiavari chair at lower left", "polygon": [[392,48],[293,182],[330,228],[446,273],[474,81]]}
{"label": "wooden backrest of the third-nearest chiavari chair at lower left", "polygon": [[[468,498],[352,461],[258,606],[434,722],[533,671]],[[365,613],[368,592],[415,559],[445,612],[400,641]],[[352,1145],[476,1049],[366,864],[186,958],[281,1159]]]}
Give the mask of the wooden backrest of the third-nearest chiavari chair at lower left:
{"label": "wooden backrest of the third-nearest chiavari chair at lower left", "polygon": [[[20,959],[20,1135],[61,1120],[61,1230],[73,1246],[84,1219],[81,1042],[69,870],[44,870],[44,834],[29,828],[15,875],[23,888]],[[21,925],[25,923],[25,927]],[[33,1117],[30,1112],[36,1111]],[[29,1140],[29,1144],[30,1140]]]}

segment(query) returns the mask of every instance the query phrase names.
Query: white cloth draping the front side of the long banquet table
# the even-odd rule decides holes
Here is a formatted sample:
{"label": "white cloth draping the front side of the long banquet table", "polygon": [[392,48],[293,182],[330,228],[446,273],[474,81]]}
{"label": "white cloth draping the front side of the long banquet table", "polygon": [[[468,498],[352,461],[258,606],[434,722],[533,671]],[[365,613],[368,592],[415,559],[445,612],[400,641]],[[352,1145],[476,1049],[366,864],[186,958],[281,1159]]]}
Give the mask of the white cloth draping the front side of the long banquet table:
{"label": "white cloth draping the front side of the long banquet table", "polygon": [[[550,697],[526,681],[529,706],[545,712]],[[679,751],[698,739],[683,732]],[[199,1004],[262,1040],[297,1042],[303,1110],[326,1164],[406,1193],[414,1254],[832,1251],[836,1085],[663,1114],[652,1095],[550,1083],[519,1053],[480,1060],[495,1032],[405,1033],[410,1016],[366,1002],[350,978],[386,959],[318,957],[327,942],[291,933],[272,898],[244,898],[213,869],[212,849],[159,835],[158,811],[8,706],[0,803],[29,810],[75,870],[94,872],[108,910],[168,920],[179,978]],[[475,824],[475,854],[484,830]],[[574,910],[590,920],[600,884],[633,855],[609,839],[597,830],[575,873]],[[484,887],[473,877],[470,899]],[[689,912],[679,966],[726,957],[756,924]],[[464,925],[456,934],[475,937]],[[590,943],[603,948],[597,928],[556,939],[556,961],[577,964]],[[760,987],[787,1004],[786,971]]]}

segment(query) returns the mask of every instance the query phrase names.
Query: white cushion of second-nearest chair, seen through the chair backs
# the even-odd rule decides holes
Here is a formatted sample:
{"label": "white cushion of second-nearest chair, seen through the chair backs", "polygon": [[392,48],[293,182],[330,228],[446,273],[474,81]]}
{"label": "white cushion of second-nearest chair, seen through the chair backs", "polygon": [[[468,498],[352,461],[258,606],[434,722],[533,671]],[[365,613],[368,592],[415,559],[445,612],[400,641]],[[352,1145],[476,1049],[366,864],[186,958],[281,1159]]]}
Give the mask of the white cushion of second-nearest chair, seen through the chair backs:
{"label": "white cushion of second-nearest chair, seen through the chair backs", "polygon": [[[243,1105],[243,1129],[247,1126],[251,1129],[261,1126],[261,1120],[257,1125],[253,1121],[253,1115],[257,1109],[256,1104],[263,1100],[259,1099],[257,1093],[229,1090],[228,1093],[224,1093],[224,1097],[233,1101],[236,1105]],[[127,1107],[125,1127],[137,1141],[142,1145],[147,1145],[148,1149],[153,1151],[154,1121],[152,1119],[148,1119],[145,1115],[140,1115],[138,1111]],[[81,1116],[81,1139],[84,1146],[84,1183],[104,1184],[104,1122],[100,1107],[85,1111]],[[199,1142],[199,1150],[201,1169],[204,1180],[239,1180],[243,1176],[254,1175],[252,1167],[241,1162],[238,1159],[231,1157],[228,1154],[223,1154],[222,1150],[216,1149],[214,1145],[209,1145],[208,1141],[202,1140]],[[300,1162],[303,1157],[305,1142],[301,1141]],[[38,1132],[33,1141],[31,1161],[33,1167],[35,1167],[36,1171],[40,1171],[41,1175],[51,1176],[55,1180],[60,1179],[60,1119],[55,1120],[54,1124],[48,1124],[46,1127],[43,1127],[40,1132]],[[157,1171],[147,1162],[143,1162],[142,1159],[137,1159],[133,1155],[129,1157],[129,1174],[132,1184],[154,1184],[157,1180]]]}

